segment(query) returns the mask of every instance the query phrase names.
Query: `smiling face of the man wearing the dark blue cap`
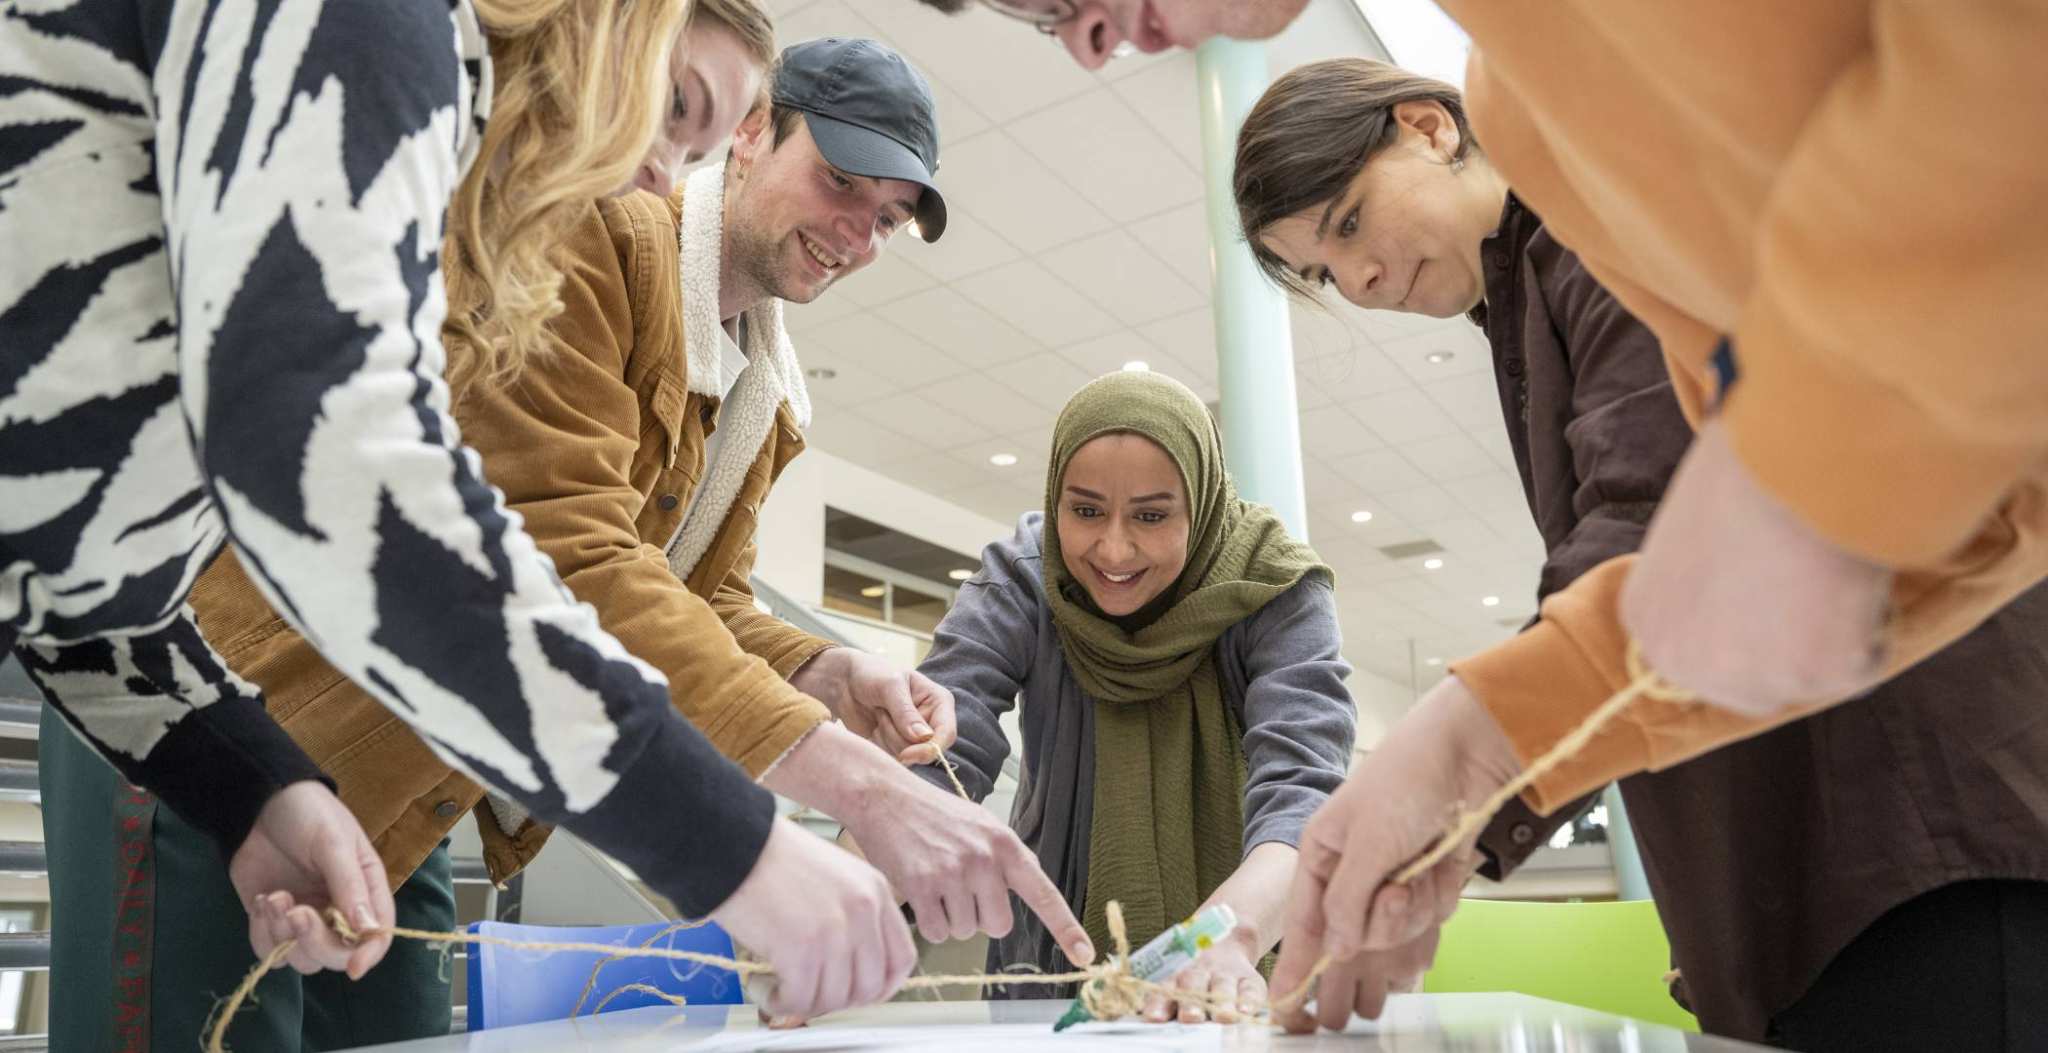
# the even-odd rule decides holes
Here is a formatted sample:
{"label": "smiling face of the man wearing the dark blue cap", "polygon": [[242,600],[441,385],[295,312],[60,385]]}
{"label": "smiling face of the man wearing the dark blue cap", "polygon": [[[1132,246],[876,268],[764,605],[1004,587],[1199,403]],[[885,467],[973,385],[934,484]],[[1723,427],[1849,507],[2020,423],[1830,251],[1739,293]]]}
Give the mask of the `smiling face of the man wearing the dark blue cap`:
{"label": "smiling face of the man wearing the dark blue cap", "polygon": [[754,295],[811,303],[881,256],[915,215],[924,186],[840,170],[817,152],[803,117],[780,143],[772,125],[766,109],[756,111],[733,139],[725,262]]}

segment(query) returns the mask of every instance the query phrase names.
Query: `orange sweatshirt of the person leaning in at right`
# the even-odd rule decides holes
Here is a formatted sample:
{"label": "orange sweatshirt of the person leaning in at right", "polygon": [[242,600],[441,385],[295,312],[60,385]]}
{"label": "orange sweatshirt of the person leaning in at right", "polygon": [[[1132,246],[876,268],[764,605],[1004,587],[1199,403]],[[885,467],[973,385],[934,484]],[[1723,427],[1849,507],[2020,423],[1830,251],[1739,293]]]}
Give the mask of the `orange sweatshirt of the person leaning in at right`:
{"label": "orange sweatshirt of the person leaning in at right", "polygon": [[[1444,0],[1475,133],[1663,342],[1686,414],[1829,541],[1898,570],[1896,672],[2048,574],[2048,0]],[[1626,680],[1618,557],[1460,662],[1528,762]],[[1855,705],[1855,703],[1851,703]],[[1634,705],[1548,811],[1757,721]]]}

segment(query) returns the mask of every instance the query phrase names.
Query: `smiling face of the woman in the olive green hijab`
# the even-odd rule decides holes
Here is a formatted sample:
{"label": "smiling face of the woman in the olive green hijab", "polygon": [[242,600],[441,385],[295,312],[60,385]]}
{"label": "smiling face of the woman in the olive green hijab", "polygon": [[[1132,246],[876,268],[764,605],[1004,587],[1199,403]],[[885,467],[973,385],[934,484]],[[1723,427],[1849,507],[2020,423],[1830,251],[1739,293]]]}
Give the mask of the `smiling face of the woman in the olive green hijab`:
{"label": "smiling face of the woman in the olive green hijab", "polygon": [[1133,615],[1188,565],[1188,490],[1151,438],[1112,432],[1067,461],[1059,555],[1104,615]]}

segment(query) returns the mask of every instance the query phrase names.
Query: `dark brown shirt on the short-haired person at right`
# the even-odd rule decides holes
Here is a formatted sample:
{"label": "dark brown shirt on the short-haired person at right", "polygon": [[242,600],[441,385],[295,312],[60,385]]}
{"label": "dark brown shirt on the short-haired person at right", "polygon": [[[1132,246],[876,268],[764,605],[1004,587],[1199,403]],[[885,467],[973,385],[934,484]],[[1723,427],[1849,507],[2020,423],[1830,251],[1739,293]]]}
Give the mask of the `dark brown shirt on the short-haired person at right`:
{"label": "dark brown shirt on the short-haired person at right", "polygon": [[[1540,594],[1634,551],[1692,438],[1636,322],[1509,201],[1481,248],[1483,324]],[[1765,1041],[1878,916],[1970,879],[2048,881],[2048,588],[1851,705],[1622,781],[1642,867],[1716,1035]],[[1579,807],[1509,801],[1481,834],[1503,877]]]}

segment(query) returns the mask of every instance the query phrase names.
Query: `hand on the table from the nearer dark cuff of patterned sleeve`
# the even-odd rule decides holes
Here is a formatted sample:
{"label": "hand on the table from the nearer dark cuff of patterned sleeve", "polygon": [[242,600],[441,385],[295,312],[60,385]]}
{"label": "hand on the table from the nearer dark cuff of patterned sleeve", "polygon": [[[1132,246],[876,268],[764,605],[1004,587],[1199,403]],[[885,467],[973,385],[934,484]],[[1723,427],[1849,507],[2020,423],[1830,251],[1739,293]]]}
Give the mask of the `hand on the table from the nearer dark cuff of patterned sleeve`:
{"label": "hand on the table from the nearer dark cuff of patterned sleeve", "polygon": [[883,875],[784,819],[711,918],[774,967],[762,1012],[778,1024],[881,1002],[918,965]]}

